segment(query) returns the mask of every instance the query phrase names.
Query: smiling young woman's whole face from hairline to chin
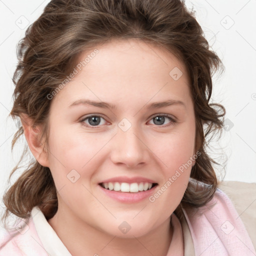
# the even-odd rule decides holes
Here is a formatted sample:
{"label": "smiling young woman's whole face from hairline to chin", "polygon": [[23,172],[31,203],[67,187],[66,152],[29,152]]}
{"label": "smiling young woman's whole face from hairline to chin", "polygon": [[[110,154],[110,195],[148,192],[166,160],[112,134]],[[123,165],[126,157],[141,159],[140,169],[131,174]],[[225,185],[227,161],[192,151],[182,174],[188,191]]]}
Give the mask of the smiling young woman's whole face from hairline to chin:
{"label": "smiling young woman's whole face from hairline to chin", "polygon": [[140,236],[169,221],[196,158],[188,76],[173,54],[142,41],[95,48],[51,99],[47,165],[58,213]]}

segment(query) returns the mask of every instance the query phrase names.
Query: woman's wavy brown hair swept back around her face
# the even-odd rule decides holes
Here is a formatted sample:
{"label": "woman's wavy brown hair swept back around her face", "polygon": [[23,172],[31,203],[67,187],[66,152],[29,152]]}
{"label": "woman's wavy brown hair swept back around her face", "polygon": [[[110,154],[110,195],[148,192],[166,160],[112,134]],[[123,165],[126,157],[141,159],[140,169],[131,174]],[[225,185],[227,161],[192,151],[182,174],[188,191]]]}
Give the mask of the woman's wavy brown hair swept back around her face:
{"label": "woman's wavy brown hair swept back around her face", "polygon": [[[224,107],[209,102],[211,76],[223,65],[209,49],[194,14],[180,0],[51,0],[19,41],[10,115],[15,118],[25,113],[34,126],[43,124],[39,140],[44,137],[47,147],[51,102],[47,95],[71,72],[79,53],[112,38],[137,38],[155,43],[185,64],[196,118],[195,146],[200,152],[190,177],[208,185],[198,189],[200,182],[190,181],[180,205],[204,205],[218,184],[213,169],[216,162],[206,153],[205,138],[216,131],[221,133],[223,128]],[[20,126],[11,148],[22,134]],[[27,146],[20,161],[26,151]],[[10,177],[19,168],[18,164]],[[28,217],[36,205],[46,219],[51,218],[57,210],[57,196],[50,169],[32,160],[4,194],[3,201],[4,219],[9,212]]]}

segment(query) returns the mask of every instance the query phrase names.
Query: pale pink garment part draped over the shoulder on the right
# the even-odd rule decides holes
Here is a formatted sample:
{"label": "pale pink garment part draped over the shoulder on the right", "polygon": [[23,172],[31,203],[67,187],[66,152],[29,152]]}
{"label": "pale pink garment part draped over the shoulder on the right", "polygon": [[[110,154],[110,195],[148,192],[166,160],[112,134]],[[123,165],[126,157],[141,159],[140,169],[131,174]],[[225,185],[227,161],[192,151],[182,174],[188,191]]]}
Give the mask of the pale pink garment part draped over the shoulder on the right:
{"label": "pale pink garment part draped over the shoulder on the right", "polygon": [[[214,206],[210,207],[213,203]],[[196,256],[256,255],[241,218],[228,196],[219,188],[205,206],[183,211]]]}

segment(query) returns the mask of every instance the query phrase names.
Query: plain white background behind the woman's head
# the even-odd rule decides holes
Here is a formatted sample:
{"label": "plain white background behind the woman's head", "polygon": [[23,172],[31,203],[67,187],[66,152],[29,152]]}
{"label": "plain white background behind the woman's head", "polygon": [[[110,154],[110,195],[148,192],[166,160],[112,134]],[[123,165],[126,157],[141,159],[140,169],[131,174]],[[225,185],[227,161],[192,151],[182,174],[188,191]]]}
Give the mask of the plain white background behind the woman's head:
{"label": "plain white background behind the woman's head", "polygon": [[[23,150],[20,142],[11,153],[17,127],[7,117],[12,107],[16,45],[26,25],[40,15],[47,2],[0,0],[0,197]],[[256,182],[256,0],[185,2],[196,11],[209,45],[225,66],[221,76],[213,77],[212,100],[225,106],[229,124],[222,139],[212,143],[209,150],[225,166],[216,171],[223,176],[225,170],[226,180]]]}

